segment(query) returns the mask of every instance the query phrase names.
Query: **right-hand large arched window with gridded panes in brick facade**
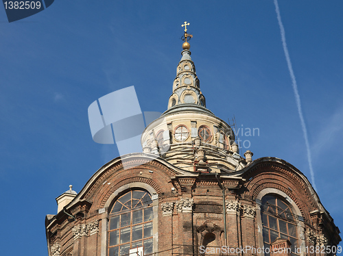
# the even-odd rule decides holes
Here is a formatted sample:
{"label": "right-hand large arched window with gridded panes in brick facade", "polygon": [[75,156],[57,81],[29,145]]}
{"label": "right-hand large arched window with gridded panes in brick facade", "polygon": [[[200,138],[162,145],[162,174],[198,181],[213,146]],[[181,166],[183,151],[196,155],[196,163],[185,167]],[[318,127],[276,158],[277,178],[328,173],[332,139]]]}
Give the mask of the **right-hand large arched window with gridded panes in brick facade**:
{"label": "right-hand large arched window with gridded panes in brick facade", "polygon": [[293,255],[295,246],[298,247],[298,232],[297,216],[290,203],[281,196],[267,194],[262,198],[261,217],[264,247],[270,248],[276,238],[287,239],[291,242]]}

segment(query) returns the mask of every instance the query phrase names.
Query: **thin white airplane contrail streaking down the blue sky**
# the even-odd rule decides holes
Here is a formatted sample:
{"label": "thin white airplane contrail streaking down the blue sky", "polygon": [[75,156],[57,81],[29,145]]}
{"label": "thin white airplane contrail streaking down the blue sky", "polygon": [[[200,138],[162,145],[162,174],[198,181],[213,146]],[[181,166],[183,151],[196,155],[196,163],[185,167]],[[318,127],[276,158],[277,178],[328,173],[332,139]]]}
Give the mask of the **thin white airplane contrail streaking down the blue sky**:
{"label": "thin white airplane contrail streaking down the blue sky", "polygon": [[274,0],[274,5],[275,5],[275,12],[276,12],[278,22],[279,22],[279,27],[280,27],[283,51],[285,52],[285,57],[286,57],[286,61],[287,61],[289,75],[291,76],[291,79],[292,79],[292,86],[293,86],[293,91],[294,91],[294,97],[296,98],[296,106],[298,107],[300,124],[301,124],[301,128],[303,129],[303,133],[304,133],[304,139],[305,139],[305,144],[306,144],[306,149],[307,149],[307,162],[309,162],[309,172],[311,175],[311,183],[314,186],[314,189],[317,190],[316,183],[314,182],[314,169],[312,167],[311,150],[309,149],[309,138],[307,136],[307,129],[306,129],[305,120],[304,120],[304,116],[303,116],[303,110],[301,110],[301,101],[300,101],[300,96],[299,96],[299,92],[298,92],[298,86],[296,84],[296,77],[295,77],[294,72],[293,72],[291,58],[289,57],[289,53],[288,53],[288,49],[287,49],[285,29],[284,29],[283,23],[281,21],[279,3],[277,0]]}

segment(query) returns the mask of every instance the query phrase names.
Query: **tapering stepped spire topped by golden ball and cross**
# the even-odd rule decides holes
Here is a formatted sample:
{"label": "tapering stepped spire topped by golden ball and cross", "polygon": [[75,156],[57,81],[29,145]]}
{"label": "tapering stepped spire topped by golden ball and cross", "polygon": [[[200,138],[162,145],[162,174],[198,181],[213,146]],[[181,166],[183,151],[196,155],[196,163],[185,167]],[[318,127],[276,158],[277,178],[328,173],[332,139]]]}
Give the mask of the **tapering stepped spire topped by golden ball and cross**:
{"label": "tapering stepped spire topped by golden ball and cross", "polygon": [[196,66],[191,60],[191,51],[189,51],[191,45],[188,41],[193,35],[187,34],[187,26],[189,26],[187,21],[181,26],[185,27],[185,33],[182,36],[182,40],[185,42],[182,44],[182,57],[176,68],[173,94],[169,97],[168,109],[180,104],[196,104],[206,107],[205,97],[200,91],[200,81],[196,75]]}

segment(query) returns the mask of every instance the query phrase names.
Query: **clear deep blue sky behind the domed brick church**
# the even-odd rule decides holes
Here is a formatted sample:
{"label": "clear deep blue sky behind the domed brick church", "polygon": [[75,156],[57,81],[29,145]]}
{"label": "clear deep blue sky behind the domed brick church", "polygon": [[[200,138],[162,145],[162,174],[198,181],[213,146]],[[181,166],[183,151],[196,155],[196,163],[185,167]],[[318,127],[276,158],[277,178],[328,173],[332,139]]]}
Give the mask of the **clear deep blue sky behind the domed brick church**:
{"label": "clear deep blue sky behind the domed brick church", "polygon": [[[317,192],[343,230],[343,2],[281,0],[279,8]],[[167,109],[184,21],[209,110],[259,128],[239,135],[253,159],[285,159],[310,179],[272,0],[61,0],[14,23],[0,8],[3,255],[47,255],[44,220],[56,214],[56,197],[69,184],[79,192],[118,156],[91,138],[93,101],[134,86],[141,110]]]}

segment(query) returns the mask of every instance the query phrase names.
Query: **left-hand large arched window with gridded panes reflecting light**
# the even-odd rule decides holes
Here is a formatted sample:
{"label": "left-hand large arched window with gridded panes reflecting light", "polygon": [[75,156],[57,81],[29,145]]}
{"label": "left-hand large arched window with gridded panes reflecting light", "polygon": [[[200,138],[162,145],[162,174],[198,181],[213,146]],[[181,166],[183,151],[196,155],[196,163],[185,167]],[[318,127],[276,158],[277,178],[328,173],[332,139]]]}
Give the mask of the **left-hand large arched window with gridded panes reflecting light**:
{"label": "left-hand large arched window with gridded panes reflecting light", "polygon": [[146,190],[130,190],[115,201],[110,211],[108,256],[128,255],[130,248],[144,246],[152,253],[152,198]]}

